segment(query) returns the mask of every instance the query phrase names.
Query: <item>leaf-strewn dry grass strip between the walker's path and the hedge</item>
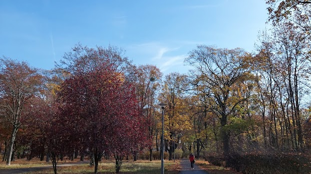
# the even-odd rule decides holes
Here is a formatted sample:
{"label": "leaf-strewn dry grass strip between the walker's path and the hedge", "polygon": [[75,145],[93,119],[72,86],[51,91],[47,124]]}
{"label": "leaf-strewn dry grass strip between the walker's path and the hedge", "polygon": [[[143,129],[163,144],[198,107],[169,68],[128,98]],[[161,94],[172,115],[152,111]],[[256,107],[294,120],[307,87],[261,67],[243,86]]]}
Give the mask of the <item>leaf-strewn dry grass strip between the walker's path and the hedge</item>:
{"label": "leaf-strewn dry grass strip between the walker's path and the hedge", "polygon": [[209,164],[207,161],[195,160],[195,164],[208,174],[242,174],[230,168],[223,168]]}

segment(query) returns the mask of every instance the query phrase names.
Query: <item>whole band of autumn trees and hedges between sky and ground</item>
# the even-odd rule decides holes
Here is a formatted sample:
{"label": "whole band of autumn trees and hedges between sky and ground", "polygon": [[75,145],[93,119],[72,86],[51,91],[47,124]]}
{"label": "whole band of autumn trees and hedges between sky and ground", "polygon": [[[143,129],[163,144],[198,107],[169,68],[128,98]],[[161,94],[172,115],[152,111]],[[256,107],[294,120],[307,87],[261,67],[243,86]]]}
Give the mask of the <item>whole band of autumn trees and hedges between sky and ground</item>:
{"label": "whole band of autumn trees and hedges between sky and ground", "polygon": [[[186,157],[243,173],[309,173],[311,1],[266,0],[252,53],[197,45],[187,74],[134,65],[116,46],[76,44],[55,68],[0,61],[0,150],[14,158]],[[174,153],[174,154],[173,154]],[[224,162],[224,163],[223,163]]]}

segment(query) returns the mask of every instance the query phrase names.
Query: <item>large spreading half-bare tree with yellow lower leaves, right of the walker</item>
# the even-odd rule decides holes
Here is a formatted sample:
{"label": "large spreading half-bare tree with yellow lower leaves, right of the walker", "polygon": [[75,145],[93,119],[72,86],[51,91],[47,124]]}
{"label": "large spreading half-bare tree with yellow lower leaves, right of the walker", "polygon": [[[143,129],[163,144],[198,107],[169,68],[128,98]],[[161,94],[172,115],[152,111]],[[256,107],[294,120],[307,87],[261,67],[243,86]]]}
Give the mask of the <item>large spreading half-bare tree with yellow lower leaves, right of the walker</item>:
{"label": "large spreading half-bare tree with yellow lower leaves, right of the walker", "polygon": [[[198,45],[189,52],[185,62],[193,66],[192,71],[194,90],[206,88],[210,100],[210,106],[214,114],[219,117],[222,127],[223,152],[229,155],[229,135],[225,126],[228,118],[236,110],[236,107],[249,97],[240,93],[240,88],[252,83],[249,65],[246,60],[251,56],[242,49],[220,49],[213,46]],[[196,88],[196,89],[195,89]]]}

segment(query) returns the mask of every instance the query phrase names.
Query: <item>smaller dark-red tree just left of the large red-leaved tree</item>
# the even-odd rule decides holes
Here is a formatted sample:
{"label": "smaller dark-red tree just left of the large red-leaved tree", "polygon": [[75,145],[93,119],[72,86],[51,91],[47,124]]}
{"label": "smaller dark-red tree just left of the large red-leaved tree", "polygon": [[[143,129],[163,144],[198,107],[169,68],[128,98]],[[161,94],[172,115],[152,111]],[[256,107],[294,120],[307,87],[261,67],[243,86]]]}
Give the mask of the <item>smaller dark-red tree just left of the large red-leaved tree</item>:
{"label": "smaller dark-red tree just left of the large red-leaved tree", "polygon": [[[61,115],[61,103],[56,98],[45,96],[46,98],[35,98],[31,107],[33,130],[29,139],[34,139],[43,149],[38,149],[38,154],[42,157],[42,151],[46,151],[51,159],[53,172],[57,174],[57,163],[62,155],[68,154],[72,149],[72,137],[70,126],[67,120]],[[32,142],[34,143],[34,142]],[[31,150],[32,151],[32,150]],[[32,152],[31,152],[32,153]]]}

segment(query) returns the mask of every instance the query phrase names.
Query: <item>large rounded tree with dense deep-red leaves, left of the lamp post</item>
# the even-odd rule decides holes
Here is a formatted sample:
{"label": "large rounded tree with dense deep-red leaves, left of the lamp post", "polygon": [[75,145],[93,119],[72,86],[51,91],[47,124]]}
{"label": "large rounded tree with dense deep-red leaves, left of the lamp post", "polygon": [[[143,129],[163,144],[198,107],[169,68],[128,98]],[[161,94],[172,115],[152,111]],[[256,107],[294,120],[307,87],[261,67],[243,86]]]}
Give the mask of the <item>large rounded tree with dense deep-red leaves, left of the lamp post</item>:
{"label": "large rounded tree with dense deep-red leaves, left of the lamp post", "polygon": [[134,88],[112,64],[75,72],[61,85],[60,98],[61,118],[71,127],[70,137],[93,154],[95,174],[104,154],[122,157],[145,140]]}

